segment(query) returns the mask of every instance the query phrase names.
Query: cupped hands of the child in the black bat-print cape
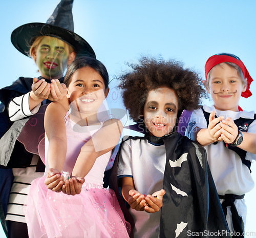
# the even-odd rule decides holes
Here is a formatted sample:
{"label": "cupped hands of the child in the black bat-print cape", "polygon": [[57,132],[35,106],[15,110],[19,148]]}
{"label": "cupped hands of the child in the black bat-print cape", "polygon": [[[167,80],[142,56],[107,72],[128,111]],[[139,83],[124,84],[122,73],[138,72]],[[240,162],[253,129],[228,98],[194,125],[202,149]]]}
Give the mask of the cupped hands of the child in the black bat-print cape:
{"label": "cupped hands of the child in the black bat-print cape", "polygon": [[127,202],[130,204],[131,208],[135,209],[136,211],[146,211],[154,213],[159,211],[160,208],[163,206],[164,194],[164,189],[156,191],[152,195],[148,194],[147,196],[141,194],[134,189],[131,189],[129,191],[130,197]]}

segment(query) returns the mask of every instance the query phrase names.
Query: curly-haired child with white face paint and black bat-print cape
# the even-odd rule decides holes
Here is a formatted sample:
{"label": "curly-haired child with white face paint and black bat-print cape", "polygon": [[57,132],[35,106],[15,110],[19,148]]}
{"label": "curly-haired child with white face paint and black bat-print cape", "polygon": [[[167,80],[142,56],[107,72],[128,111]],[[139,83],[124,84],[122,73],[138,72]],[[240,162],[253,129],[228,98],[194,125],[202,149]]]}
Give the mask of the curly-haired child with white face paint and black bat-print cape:
{"label": "curly-haired child with white face paint and black bat-print cape", "polygon": [[[120,88],[145,137],[120,145],[118,179],[135,222],[134,237],[228,231],[205,150],[175,132],[181,112],[198,108],[204,94],[200,78],[175,61],[143,58],[133,69],[121,77]],[[117,191],[114,177],[115,172],[111,187]]]}

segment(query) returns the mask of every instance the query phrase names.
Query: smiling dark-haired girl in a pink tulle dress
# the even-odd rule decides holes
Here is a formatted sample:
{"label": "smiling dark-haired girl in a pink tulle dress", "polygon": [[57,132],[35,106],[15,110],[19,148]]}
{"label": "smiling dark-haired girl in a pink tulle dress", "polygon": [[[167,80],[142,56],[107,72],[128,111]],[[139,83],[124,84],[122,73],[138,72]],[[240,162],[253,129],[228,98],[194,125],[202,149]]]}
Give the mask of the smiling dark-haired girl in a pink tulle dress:
{"label": "smiling dark-haired girl in a pink tulle dress", "polygon": [[129,237],[114,191],[102,186],[122,132],[119,120],[104,115],[108,72],[82,57],[64,82],[69,100],[51,103],[45,114],[46,170],[29,191],[29,237]]}

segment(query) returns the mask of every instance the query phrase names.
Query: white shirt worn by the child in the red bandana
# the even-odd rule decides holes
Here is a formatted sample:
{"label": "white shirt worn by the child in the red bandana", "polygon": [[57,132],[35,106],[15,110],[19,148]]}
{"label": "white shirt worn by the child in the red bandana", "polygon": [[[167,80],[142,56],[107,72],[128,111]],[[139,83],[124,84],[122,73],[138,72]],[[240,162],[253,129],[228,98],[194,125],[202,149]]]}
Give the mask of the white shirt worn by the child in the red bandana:
{"label": "white shirt worn by the child in the red bandana", "polygon": [[[209,107],[207,105],[204,105],[203,109],[208,113],[215,111],[218,117],[230,117],[233,120],[239,118],[253,119],[254,117],[253,111],[219,111],[216,110],[214,106]],[[207,123],[202,109],[198,109],[191,114],[185,136],[191,138],[191,132],[195,127],[207,128]],[[256,120],[250,124],[247,132],[256,133]],[[226,148],[222,141],[218,142],[217,144],[207,145],[204,148],[206,149],[209,167],[219,195],[228,193],[242,195],[254,187],[254,182],[251,177],[249,168],[242,163],[239,155],[233,152],[231,149]],[[245,159],[249,161],[255,160],[256,155],[247,152]],[[247,209],[244,200],[236,200],[235,205],[237,207],[238,213],[242,216],[245,223]],[[227,215],[227,221],[228,220],[229,216]]]}

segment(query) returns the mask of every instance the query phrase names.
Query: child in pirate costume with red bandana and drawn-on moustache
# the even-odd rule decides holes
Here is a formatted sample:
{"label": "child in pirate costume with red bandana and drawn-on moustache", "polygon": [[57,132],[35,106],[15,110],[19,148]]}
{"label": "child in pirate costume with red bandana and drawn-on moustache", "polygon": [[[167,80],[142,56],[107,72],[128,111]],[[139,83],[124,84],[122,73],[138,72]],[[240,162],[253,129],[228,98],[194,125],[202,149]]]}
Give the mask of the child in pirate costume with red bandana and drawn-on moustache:
{"label": "child in pirate costume with red bandana and drawn-on moustache", "polygon": [[214,105],[191,114],[186,135],[205,146],[208,162],[232,237],[243,237],[244,194],[254,187],[250,164],[256,159],[256,114],[239,107],[249,97],[252,78],[232,54],[211,56],[205,64],[205,88]]}

